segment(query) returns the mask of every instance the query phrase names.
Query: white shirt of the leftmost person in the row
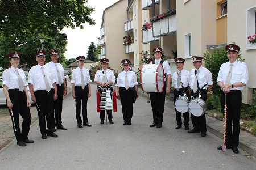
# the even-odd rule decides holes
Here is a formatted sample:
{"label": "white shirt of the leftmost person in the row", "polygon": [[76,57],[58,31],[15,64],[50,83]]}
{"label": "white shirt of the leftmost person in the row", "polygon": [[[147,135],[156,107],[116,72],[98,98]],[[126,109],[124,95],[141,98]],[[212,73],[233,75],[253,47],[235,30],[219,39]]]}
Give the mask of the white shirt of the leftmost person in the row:
{"label": "white shirt of the leftmost person in the row", "polygon": [[[22,77],[24,87],[28,86],[26,75],[22,69],[18,69],[19,75]],[[9,69],[3,71],[3,85],[6,85],[8,89],[19,89],[19,79],[16,69],[11,66]]]}

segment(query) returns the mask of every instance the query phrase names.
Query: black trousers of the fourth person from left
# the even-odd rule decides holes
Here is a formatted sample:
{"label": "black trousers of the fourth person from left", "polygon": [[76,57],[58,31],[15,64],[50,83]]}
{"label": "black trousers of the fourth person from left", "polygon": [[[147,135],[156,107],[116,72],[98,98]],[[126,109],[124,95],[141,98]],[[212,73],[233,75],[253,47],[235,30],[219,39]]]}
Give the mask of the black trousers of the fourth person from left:
{"label": "black trousers of the fourth person from left", "polygon": [[[82,89],[81,86],[75,87],[75,94],[76,94],[76,121],[77,124],[82,124],[83,122],[88,122],[87,118],[87,100],[88,100],[88,86],[85,86]],[[82,118],[81,118],[81,103],[82,103]]]}

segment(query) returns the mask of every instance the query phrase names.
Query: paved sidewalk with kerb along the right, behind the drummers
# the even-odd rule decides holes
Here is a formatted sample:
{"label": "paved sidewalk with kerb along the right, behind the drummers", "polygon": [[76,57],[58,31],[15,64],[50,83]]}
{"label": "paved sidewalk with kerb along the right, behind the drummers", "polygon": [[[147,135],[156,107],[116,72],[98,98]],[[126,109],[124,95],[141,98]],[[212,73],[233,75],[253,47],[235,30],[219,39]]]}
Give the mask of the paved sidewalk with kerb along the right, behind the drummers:
{"label": "paved sidewalk with kerb along the right, behind the drummers", "polygon": [[[146,97],[147,98],[147,94],[143,93],[141,88],[138,88],[139,90],[139,95]],[[173,103],[174,101],[171,101],[170,99],[168,99],[166,97],[166,102],[171,102]],[[165,112],[171,112],[171,114],[175,115],[175,108],[174,108],[174,104],[171,105],[165,105],[164,108]],[[189,115],[190,118],[190,125],[192,127],[192,122],[191,122],[191,116]],[[206,116],[207,119],[207,130],[216,135],[219,138],[223,138],[223,131],[224,131],[224,125],[223,122],[216,120],[213,117],[210,116]],[[175,126],[174,126],[175,127]],[[222,143],[220,143],[220,146],[222,145]],[[216,146],[217,149],[218,146]],[[240,142],[239,142],[239,146],[238,148],[240,148],[243,151],[246,151],[248,154],[256,156],[256,137],[254,137],[254,135],[251,135],[250,133],[247,133],[246,131],[243,131],[240,129]]]}

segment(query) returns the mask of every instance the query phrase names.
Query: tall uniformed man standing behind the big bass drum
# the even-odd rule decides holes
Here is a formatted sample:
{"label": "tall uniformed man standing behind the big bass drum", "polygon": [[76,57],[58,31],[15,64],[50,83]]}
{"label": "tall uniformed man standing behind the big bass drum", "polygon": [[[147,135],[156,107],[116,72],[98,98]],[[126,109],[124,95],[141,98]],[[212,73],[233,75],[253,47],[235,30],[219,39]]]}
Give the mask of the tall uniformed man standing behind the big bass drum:
{"label": "tall uniformed man standing behind the big bass drum", "polygon": [[[171,84],[171,71],[170,66],[167,61],[162,61],[162,48],[156,47],[153,49],[155,61],[151,64],[162,63],[164,69],[164,88],[162,93],[150,92],[151,107],[153,111],[153,124],[150,127],[156,126],[156,128],[161,128],[163,123],[163,113],[164,113],[164,102],[166,100],[166,92],[170,93]],[[167,86],[166,86],[167,79]]]}

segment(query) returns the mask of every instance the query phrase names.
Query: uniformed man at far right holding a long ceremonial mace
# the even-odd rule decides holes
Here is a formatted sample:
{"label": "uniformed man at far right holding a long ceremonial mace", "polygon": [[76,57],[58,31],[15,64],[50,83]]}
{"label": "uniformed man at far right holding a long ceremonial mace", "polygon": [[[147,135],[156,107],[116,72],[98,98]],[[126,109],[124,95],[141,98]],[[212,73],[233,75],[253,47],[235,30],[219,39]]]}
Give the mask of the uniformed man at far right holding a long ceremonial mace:
{"label": "uniformed man at far right holding a long ceremonial mace", "polygon": [[[240,112],[242,90],[248,83],[248,69],[246,63],[237,61],[240,47],[235,44],[226,45],[229,62],[223,63],[218,72],[217,84],[221,87],[221,107],[224,113],[226,93],[226,148],[232,148],[235,154],[239,153]],[[222,146],[217,147],[222,150]]]}

